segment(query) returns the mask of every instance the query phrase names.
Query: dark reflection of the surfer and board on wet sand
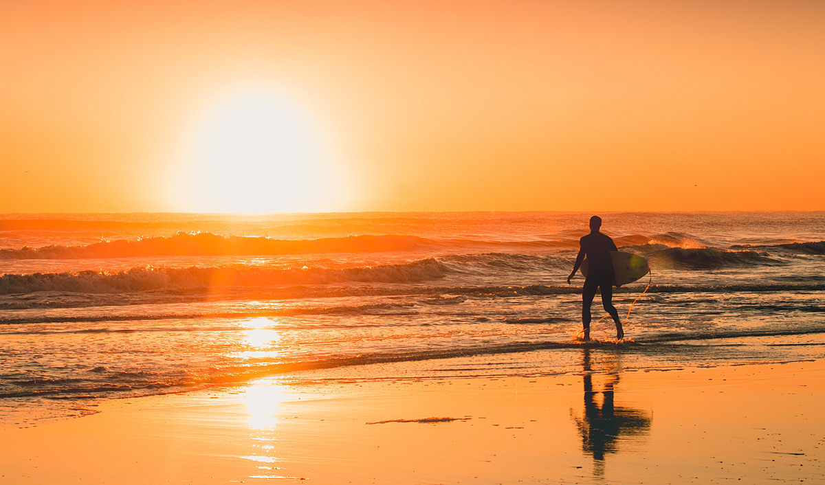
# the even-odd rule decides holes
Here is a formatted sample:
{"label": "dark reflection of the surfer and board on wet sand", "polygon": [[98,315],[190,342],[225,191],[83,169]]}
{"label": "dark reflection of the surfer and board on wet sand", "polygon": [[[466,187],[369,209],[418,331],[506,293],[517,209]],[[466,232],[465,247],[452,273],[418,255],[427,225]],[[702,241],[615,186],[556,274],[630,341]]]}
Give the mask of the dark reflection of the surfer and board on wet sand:
{"label": "dark reflection of the surfer and board on wet sand", "polygon": [[593,390],[590,349],[583,349],[584,368],[584,416],[579,418],[570,410],[582,436],[582,451],[593,457],[593,473],[601,476],[605,472],[605,455],[616,453],[620,439],[630,436],[645,436],[650,430],[652,417],[639,409],[615,406],[615,387],[619,384],[618,372],[610,374],[601,391],[601,406],[596,403]]}

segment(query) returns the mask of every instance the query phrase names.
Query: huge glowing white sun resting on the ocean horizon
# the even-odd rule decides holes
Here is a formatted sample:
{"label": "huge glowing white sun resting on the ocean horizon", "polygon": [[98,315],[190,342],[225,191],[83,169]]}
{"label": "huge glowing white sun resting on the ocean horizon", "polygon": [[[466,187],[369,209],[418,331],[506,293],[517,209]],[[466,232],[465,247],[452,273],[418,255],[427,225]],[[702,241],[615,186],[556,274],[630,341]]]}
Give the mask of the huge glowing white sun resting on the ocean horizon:
{"label": "huge glowing white sun resting on the ocean horizon", "polygon": [[346,182],[321,129],[290,97],[247,90],[216,103],[188,137],[172,198],[191,212],[338,210]]}

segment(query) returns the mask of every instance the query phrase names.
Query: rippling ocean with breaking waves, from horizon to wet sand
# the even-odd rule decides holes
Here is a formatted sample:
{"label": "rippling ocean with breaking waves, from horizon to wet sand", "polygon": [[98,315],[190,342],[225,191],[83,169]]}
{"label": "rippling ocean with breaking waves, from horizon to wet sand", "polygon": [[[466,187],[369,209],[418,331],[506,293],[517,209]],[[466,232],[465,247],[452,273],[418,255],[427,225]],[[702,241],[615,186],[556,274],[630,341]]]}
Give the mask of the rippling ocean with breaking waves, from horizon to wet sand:
{"label": "rippling ocean with breaking waves, from horizon to wet sand", "polygon": [[825,213],[599,214],[651,267],[615,289],[623,319],[641,295],[621,343],[598,296],[575,337],[591,215],[2,215],[0,419],[301,370],[574,373],[582,346],[626,370],[825,354]]}

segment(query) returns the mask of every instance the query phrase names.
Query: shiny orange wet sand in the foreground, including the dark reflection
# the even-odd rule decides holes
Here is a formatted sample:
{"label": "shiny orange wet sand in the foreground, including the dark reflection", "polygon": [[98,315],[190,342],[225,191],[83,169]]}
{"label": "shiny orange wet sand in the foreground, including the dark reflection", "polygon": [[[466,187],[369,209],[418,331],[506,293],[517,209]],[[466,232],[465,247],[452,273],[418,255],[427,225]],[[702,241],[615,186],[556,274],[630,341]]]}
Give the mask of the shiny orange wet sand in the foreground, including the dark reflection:
{"label": "shiny orange wet sand in the foreground, including the dark reflection", "polygon": [[608,352],[582,351],[579,374],[394,379],[401,367],[365,369],[370,379],[314,371],[113,401],[92,416],[36,426],[3,423],[0,483],[825,476],[823,361],[629,372],[612,365]]}

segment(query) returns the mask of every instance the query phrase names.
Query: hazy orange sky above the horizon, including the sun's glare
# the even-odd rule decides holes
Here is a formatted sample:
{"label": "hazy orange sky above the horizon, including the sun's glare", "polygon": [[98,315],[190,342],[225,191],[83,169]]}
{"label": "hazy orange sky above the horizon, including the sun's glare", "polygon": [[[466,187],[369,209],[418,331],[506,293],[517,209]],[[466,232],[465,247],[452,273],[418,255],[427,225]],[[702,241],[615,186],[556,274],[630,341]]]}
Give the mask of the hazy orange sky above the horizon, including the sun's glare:
{"label": "hazy orange sky above the horizon, including the sun's glare", "polygon": [[[825,210],[823,26],[815,1],[0,2],[0,212]],[[267,115],[311,169],[257,170]]]}

